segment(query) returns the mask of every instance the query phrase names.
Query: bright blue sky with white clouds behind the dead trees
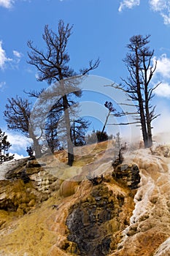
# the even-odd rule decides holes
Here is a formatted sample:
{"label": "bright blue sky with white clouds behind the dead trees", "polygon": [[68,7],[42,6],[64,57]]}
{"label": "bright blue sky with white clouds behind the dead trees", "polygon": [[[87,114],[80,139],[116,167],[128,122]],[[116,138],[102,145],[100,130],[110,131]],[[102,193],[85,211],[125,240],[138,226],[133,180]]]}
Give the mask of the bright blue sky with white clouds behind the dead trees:
{"label": "bright blue sky with white clouds behind the dead trees", "polygon": [[[3,118],[7,97],[26,95],[23,90],[41,89],[46,83],[36,81],[36,69],[27,64],[31,39],[45,49],[44,26],[57,29],[58,20],[74,25],[68,50],[70,65],[78,70],[90,59],[101,59],[91,74],[120,83],[128,72],[123,64],[129,38],[151,34],[150,48],[158,61],[153,83],[161,81],[154,103],[157,113],[155,131],[169,131],[170,121],[170,1],[169,0],[0,0],[0,121],[9,134],[12,152],[26,154],[28,142],[7,131]],[[103,102],[102,102],[103,104]],[[24,149],[23,149],[24,148]]]}

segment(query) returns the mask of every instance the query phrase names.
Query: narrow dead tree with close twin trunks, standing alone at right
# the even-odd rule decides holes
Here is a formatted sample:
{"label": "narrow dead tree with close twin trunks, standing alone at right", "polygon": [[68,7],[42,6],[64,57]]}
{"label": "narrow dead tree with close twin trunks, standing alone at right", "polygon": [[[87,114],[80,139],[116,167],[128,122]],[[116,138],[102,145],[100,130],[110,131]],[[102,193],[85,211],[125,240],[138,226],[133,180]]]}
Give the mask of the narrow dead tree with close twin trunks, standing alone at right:
{"label": "narrow dead tree with close twin trunks, standing alone at right", "polygon": [[152,146],[151,122],[159,116],[155,114],[155,106],[151,104],[154,90],[160,83],[154,86],[150,83],[157,62],[152,64],[154,50],[150,50],[148,46],[149,38],[150,35],[143,37],[140,34],[130,38],[130,43],[127,45],[129,53],[126,54],[123,60],[129,76],[127,79],[122,79],[123,84],[118,86],[128,94],[128,97],[136,105],[139,118],[136,118],[134,124],[140,123],[142,127],[145,148]]}

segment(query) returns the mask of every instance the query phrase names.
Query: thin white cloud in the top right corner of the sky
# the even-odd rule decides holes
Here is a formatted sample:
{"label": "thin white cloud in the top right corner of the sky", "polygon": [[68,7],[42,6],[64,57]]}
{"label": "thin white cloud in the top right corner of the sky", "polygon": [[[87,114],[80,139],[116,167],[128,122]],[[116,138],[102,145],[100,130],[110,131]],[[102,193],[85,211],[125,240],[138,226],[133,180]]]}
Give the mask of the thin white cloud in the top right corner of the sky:
{"label": "thin white cloud in the top right corner of the sky", "polygon": [[149,4],[153,11],[160,13],[164,24],[170,24],[170,0],[149,0]]}

